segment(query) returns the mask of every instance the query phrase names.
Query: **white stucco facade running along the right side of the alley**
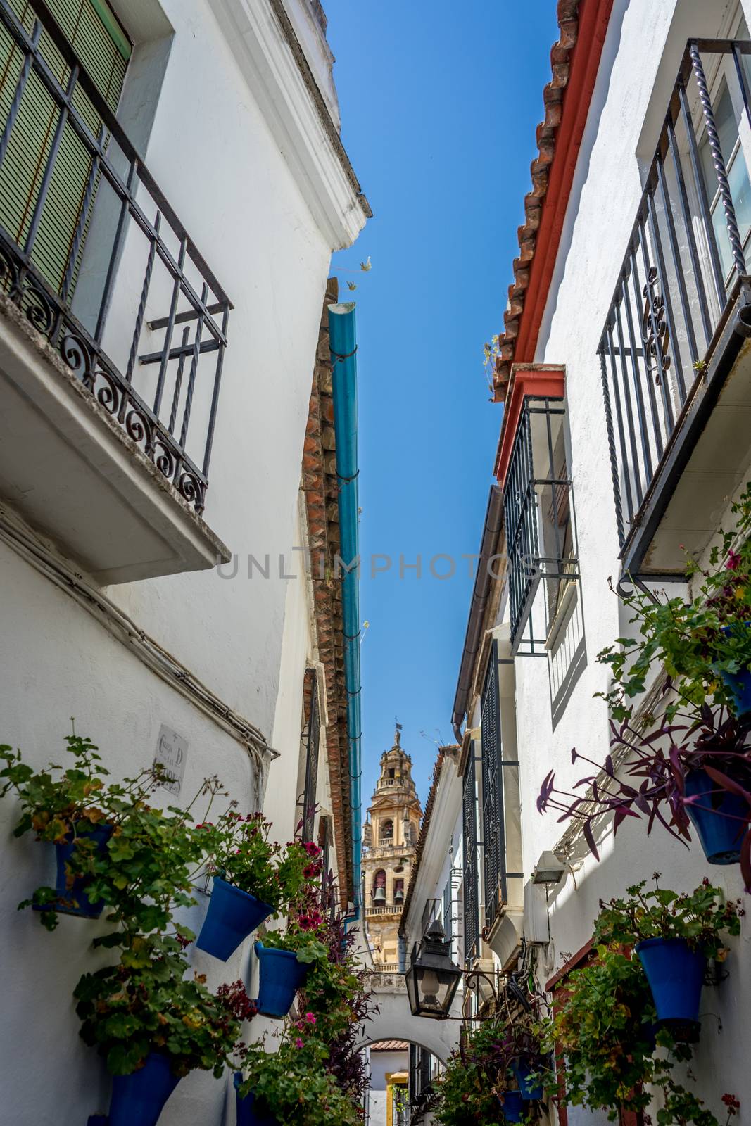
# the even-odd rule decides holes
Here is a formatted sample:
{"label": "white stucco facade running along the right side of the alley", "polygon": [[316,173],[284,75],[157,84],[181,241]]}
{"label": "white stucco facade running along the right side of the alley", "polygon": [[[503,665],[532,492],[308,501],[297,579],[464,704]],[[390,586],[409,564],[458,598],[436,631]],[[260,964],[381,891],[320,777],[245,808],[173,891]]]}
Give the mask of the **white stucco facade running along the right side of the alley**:
{"label": "white stucco facade running along the right side of the alley", "polygon": [[[598,863],[581,835],[573,834],[572,838],[570,834],[562,842],[566,825],[558,822],[555,812],[542,816],[536,802],[549,770],[555,770],[556,786],[561,790],[571,790],[582,776],[593,772],[589,762],[572,762],[572,748],[596,762],[605,760],[610,742],[609,717],[606,703],[596,694],[607,691],[609,681],[607,667],[598,663],[596,656],[632,628],[628,613],[624,613],[608,586],[610,577],[614,583],[619,579],[622,561],[598,356],[618,271],[634,232],[645,177],[665,120],[687,41],[748,39],[750,17],[751,8],[745,2],[679,0],[677,3],[650,3],[631,0],[626,3],[616,0],[578,146],[565,222],[531,366],[548,365],[549,368],[565,369],[566,475],[572,481],[579,581],[573,593],[569,591],[572,597],[558,635],[561,640],[551,635],[546,647],[543,638],[537,656],[526,654],[520,646],[511,654],[512,664],[509,665],[511,611],[509,572],[504,558],[509,529],[501,531],[497,558],[503,556],[503,562],[498,580],[491,584],[483,611],[483,634],[473,651],[472,687],[465,697],[465,735],[459,767],[466,777],[470,757],[473,753],[476,756],[480,939],[479,962],[475,964],[499,971],[512,969],[524,935],[534,948],[531,964],[542,989],[562,967],[575,964],[575,953],[581,951],[592,937],[600,900],[625,893],[626,887],[637,881],[649,882],[654,872],[661,873],[660,884],[663,887],[692,891],[704,877],[708,877],[723,888],[727,899],[743,896],[739,866],[708,865],[696,840],[690,848],[686,848],[659,825],[647,837],[645,820],[627,820],[614,839],[611,826],[606,822],[598,832]],[[718,88],[717,71],[708,70],[708,81],[714,98]],[[746,154],[748,162],[743,118],[737,128],[739,151]],[[637,324],[636,331],[638,329]],[[512,382],[513,378],[512,374]],[[615,405],[613,409],[615,411]],[[509,410],[508,400],[506,410]],[[492,452],[489,455],[492,456]],[[737,491],[739,483],[745,482],[750,475],[751,446],[748,441],[740,450],[734,449],[733,456],[733,488]],[[704,468],[713,472],[722,462],[730,477],[731,471],[725,468],[730,457],[723,461],[722,452],[716,457],[716,465],[704,465]],[[543,471],[535,475],[549,474]],[[698,476],[696,480],[699,506],[704,502],[703,482]],[[513,489],[515,485],[511,483],[507,488]],[[721,526],[732,499],[731,491],[722,504],[715,506],[712,528]],[[511,565],[509,563],[509,569]],[[655,586],[663,584],[655,580]],[[676,582],[669,590],[671,595],[680,595],[687,588]],[[566,631],[571,634],[569,640],[564,637]],[[467,636],[470,633],[468,629]],[[508,785],[504,794],[506,867],[508,870],[518,869],[521,879],[508,881],[508,899],[500,912],[500,922],[489,923],[484,911],[489,895],[483,886],[486,873],[482,832],[483,780],[480,775],[485,747],[481,703],[485,670],[489,660],[492,660],[492,641],[498,644],[501,662],[498,679],[502,757],[512,763],[508,771],[503,771],[504,783],[508,784],[509,779],[512,783],[511,802]],[[574,651],[576,668],[572,671],[571,661],[569,665],[566,661]],[[655,677],[659,671],[654,669]],[[508,682],[509,677],[512,687],[507,691],[503,685],[504,678]],[[456,786],[458,790],[461,780]],[[439,829],[433,813],[417,875],[419,902],[412,904],[410,912],[411,940],[419,938],[422,905],[428,899],[440,895],[453,832],[453,825],[447,822]],[[563,881],[547,891],[545,886],[535,885],[531,878],[544,850],[557,850],[566,857]],[[695,1047],[692,1063],[696,1079],[691,1085],[719,1120],[724,1116],[721,1101],[724,1092],[737,1096],[743,1107],[742,1115],[748,1112],[745,1108],[751,1100],[742,1016],[751,990],[751,931],[748,919],[742,921],[740,938],[732,939],[730,945],[727,980],[717,988],[704,990],[701,1037]],[[656,1110],[656,1107],[653,1109]],[[552,1109],[551,1114],[554,1117]],[[605,1116],[569,1107],[567,1121],[571,1126],[599,1124],[605,1121]]]}

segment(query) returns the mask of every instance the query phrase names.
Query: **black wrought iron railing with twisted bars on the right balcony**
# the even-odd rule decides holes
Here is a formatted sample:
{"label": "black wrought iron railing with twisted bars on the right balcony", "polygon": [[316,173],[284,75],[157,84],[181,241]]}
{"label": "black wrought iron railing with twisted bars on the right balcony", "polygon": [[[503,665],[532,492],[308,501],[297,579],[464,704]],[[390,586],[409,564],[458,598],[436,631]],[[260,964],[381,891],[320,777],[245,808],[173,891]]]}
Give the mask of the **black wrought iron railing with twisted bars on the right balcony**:
{"label": "black wrought iron railing with twisted bars on the right balcony", "polygon": [[748,42],[689,41],[602,332],[622,557],[748,291],[750,53]]}

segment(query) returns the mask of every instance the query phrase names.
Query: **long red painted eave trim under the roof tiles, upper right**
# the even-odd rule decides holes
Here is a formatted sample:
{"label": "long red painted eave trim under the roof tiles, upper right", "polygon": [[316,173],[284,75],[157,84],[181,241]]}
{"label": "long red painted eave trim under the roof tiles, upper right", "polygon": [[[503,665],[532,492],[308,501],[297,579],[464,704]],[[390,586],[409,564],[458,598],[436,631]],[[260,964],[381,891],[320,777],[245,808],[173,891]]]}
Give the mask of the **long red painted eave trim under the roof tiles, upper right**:
{"label": "long red painted eave trim under the roof tiles, upper right", "polygon": [[581,0],[579,5],[576,43],[571,52],[569,82],[563,95],[561,124],[555,136],[555,155],[549,169],[547,193],[535,242],[535,256],[529,271],[529,285],[525,294],[519,336],[513,351],[513,358],[519,364],[529,364],[535,358],[537,337],[555,269],[579,148],[587,125],[611,9],[613,0]]}

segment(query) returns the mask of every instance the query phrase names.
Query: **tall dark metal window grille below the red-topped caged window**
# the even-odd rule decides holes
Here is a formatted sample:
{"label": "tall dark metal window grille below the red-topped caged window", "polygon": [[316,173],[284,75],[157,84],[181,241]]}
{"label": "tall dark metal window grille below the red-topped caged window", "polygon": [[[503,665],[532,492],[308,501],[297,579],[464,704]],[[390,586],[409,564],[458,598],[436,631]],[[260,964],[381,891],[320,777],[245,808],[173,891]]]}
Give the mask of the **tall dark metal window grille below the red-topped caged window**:
{"label": "tall dark metal window grille below the red-topped caged window", "polygon": [[498,683],[498,643],[493,642],[481,699],[482,841],[485,886],[485,927],[491,927],[507,901],[503,775],[501,770],[501,708]]}

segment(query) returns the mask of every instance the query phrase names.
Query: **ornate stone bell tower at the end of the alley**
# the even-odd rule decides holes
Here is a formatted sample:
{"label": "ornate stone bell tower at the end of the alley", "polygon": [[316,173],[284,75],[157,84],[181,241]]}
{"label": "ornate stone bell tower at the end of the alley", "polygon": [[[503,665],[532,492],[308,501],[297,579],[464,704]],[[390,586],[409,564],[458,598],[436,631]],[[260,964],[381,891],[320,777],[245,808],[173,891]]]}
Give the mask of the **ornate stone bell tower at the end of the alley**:
{"label": "ornate stone bell tower at the end of the alley", "polygon": [[363,837],[365,924],[376,968],[395,971],[397,930],[420,831],[420,802],[412,781],[412,760],[401,745],[381,756],[381,777],[368,807]]}

